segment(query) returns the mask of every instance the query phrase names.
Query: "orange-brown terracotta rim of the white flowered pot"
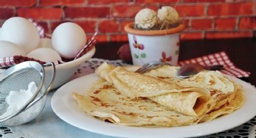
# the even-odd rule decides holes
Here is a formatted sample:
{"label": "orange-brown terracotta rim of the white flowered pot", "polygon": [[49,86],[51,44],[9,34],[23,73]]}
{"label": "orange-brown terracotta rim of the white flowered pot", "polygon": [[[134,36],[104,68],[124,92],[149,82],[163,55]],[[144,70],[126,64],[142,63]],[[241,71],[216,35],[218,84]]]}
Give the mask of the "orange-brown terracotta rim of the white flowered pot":
{"label": "orange-brown terracotta rim of the white flowered pot", "polygon": [[164,29],[164,30],[139,30],[134,29],[134,22],[128,23],[125,25],[125,31],[129,34],[134,35],[169,35],[176,34],[183,31],[185,26],[183,23],[180,23],[176,28]]}

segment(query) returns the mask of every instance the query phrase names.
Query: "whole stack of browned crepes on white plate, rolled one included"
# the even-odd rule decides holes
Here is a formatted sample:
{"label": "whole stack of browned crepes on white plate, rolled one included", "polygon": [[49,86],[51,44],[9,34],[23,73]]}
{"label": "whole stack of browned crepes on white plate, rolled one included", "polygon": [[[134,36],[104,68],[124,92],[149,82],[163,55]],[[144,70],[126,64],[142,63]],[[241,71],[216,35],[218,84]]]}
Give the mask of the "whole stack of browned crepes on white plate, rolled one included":
{"label": "whole stack of browned crepes on white plate, rolled one included", "polygon": [[101,79],[86,94],[73,93],[81,110],[119,125],[174,127],[209,121],[243,104],[241,86],[218,71],[180,79],[178,67],[163,66],[145,74],[107,63]]}

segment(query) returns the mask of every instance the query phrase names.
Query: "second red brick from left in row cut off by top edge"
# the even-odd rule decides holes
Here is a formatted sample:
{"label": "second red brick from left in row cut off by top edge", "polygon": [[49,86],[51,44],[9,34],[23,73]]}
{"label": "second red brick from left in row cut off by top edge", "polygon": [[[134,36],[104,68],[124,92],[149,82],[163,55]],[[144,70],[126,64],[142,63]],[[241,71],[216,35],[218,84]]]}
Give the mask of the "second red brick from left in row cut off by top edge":
{"label": "second red brick from left in row cut off by top edge", "polygon": [[84,4],[84,0],[40,0],[39,5],[48,6],[48,5],[76,5]]}

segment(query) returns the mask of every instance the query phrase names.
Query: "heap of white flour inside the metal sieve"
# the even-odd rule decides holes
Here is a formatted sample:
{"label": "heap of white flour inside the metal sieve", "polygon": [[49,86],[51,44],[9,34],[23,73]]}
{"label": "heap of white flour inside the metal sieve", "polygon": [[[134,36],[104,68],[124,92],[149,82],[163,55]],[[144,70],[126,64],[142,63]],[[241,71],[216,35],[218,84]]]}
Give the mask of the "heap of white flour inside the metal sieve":
{"label": "heap of white flour inside the metal sieve", "polygon": [[22,106],[24,106],[28,100],[36,93],[37,86],[35,82],[31,82],[28,85],[28,89],[20,89],[20,91],[10,91],[9,95],[6,97],[6,103],[9,105],[6,112],[0,115],[0,118],[5,118],[11,113],[16,112]]}

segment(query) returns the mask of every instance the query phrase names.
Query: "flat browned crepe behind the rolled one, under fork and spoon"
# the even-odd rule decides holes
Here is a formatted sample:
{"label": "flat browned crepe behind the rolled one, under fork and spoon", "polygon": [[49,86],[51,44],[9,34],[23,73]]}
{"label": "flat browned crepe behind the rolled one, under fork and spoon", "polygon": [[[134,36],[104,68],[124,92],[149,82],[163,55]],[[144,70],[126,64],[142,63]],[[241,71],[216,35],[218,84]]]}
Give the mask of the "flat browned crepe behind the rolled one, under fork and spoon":
{"label": "flat browned crepe behind the rolled one, under fork and spoon", "polygon": [[[133,70],[136,70],[136,68],[133,68]],[[232,82],[219,71],[205,70],[188,79],[181,79],[176,76],[177,70],[178,67],[166,65],[157,68],[156,70],[151,70],[145,74],[179,86],[195,86],[208,89],[211,97],[213,97],[213,100],[216,103],[213,109],[219,109],[223,104],[226,104],[227,102],[230,103],[235,97],[235,93],[242,89],[242,86]]]}

